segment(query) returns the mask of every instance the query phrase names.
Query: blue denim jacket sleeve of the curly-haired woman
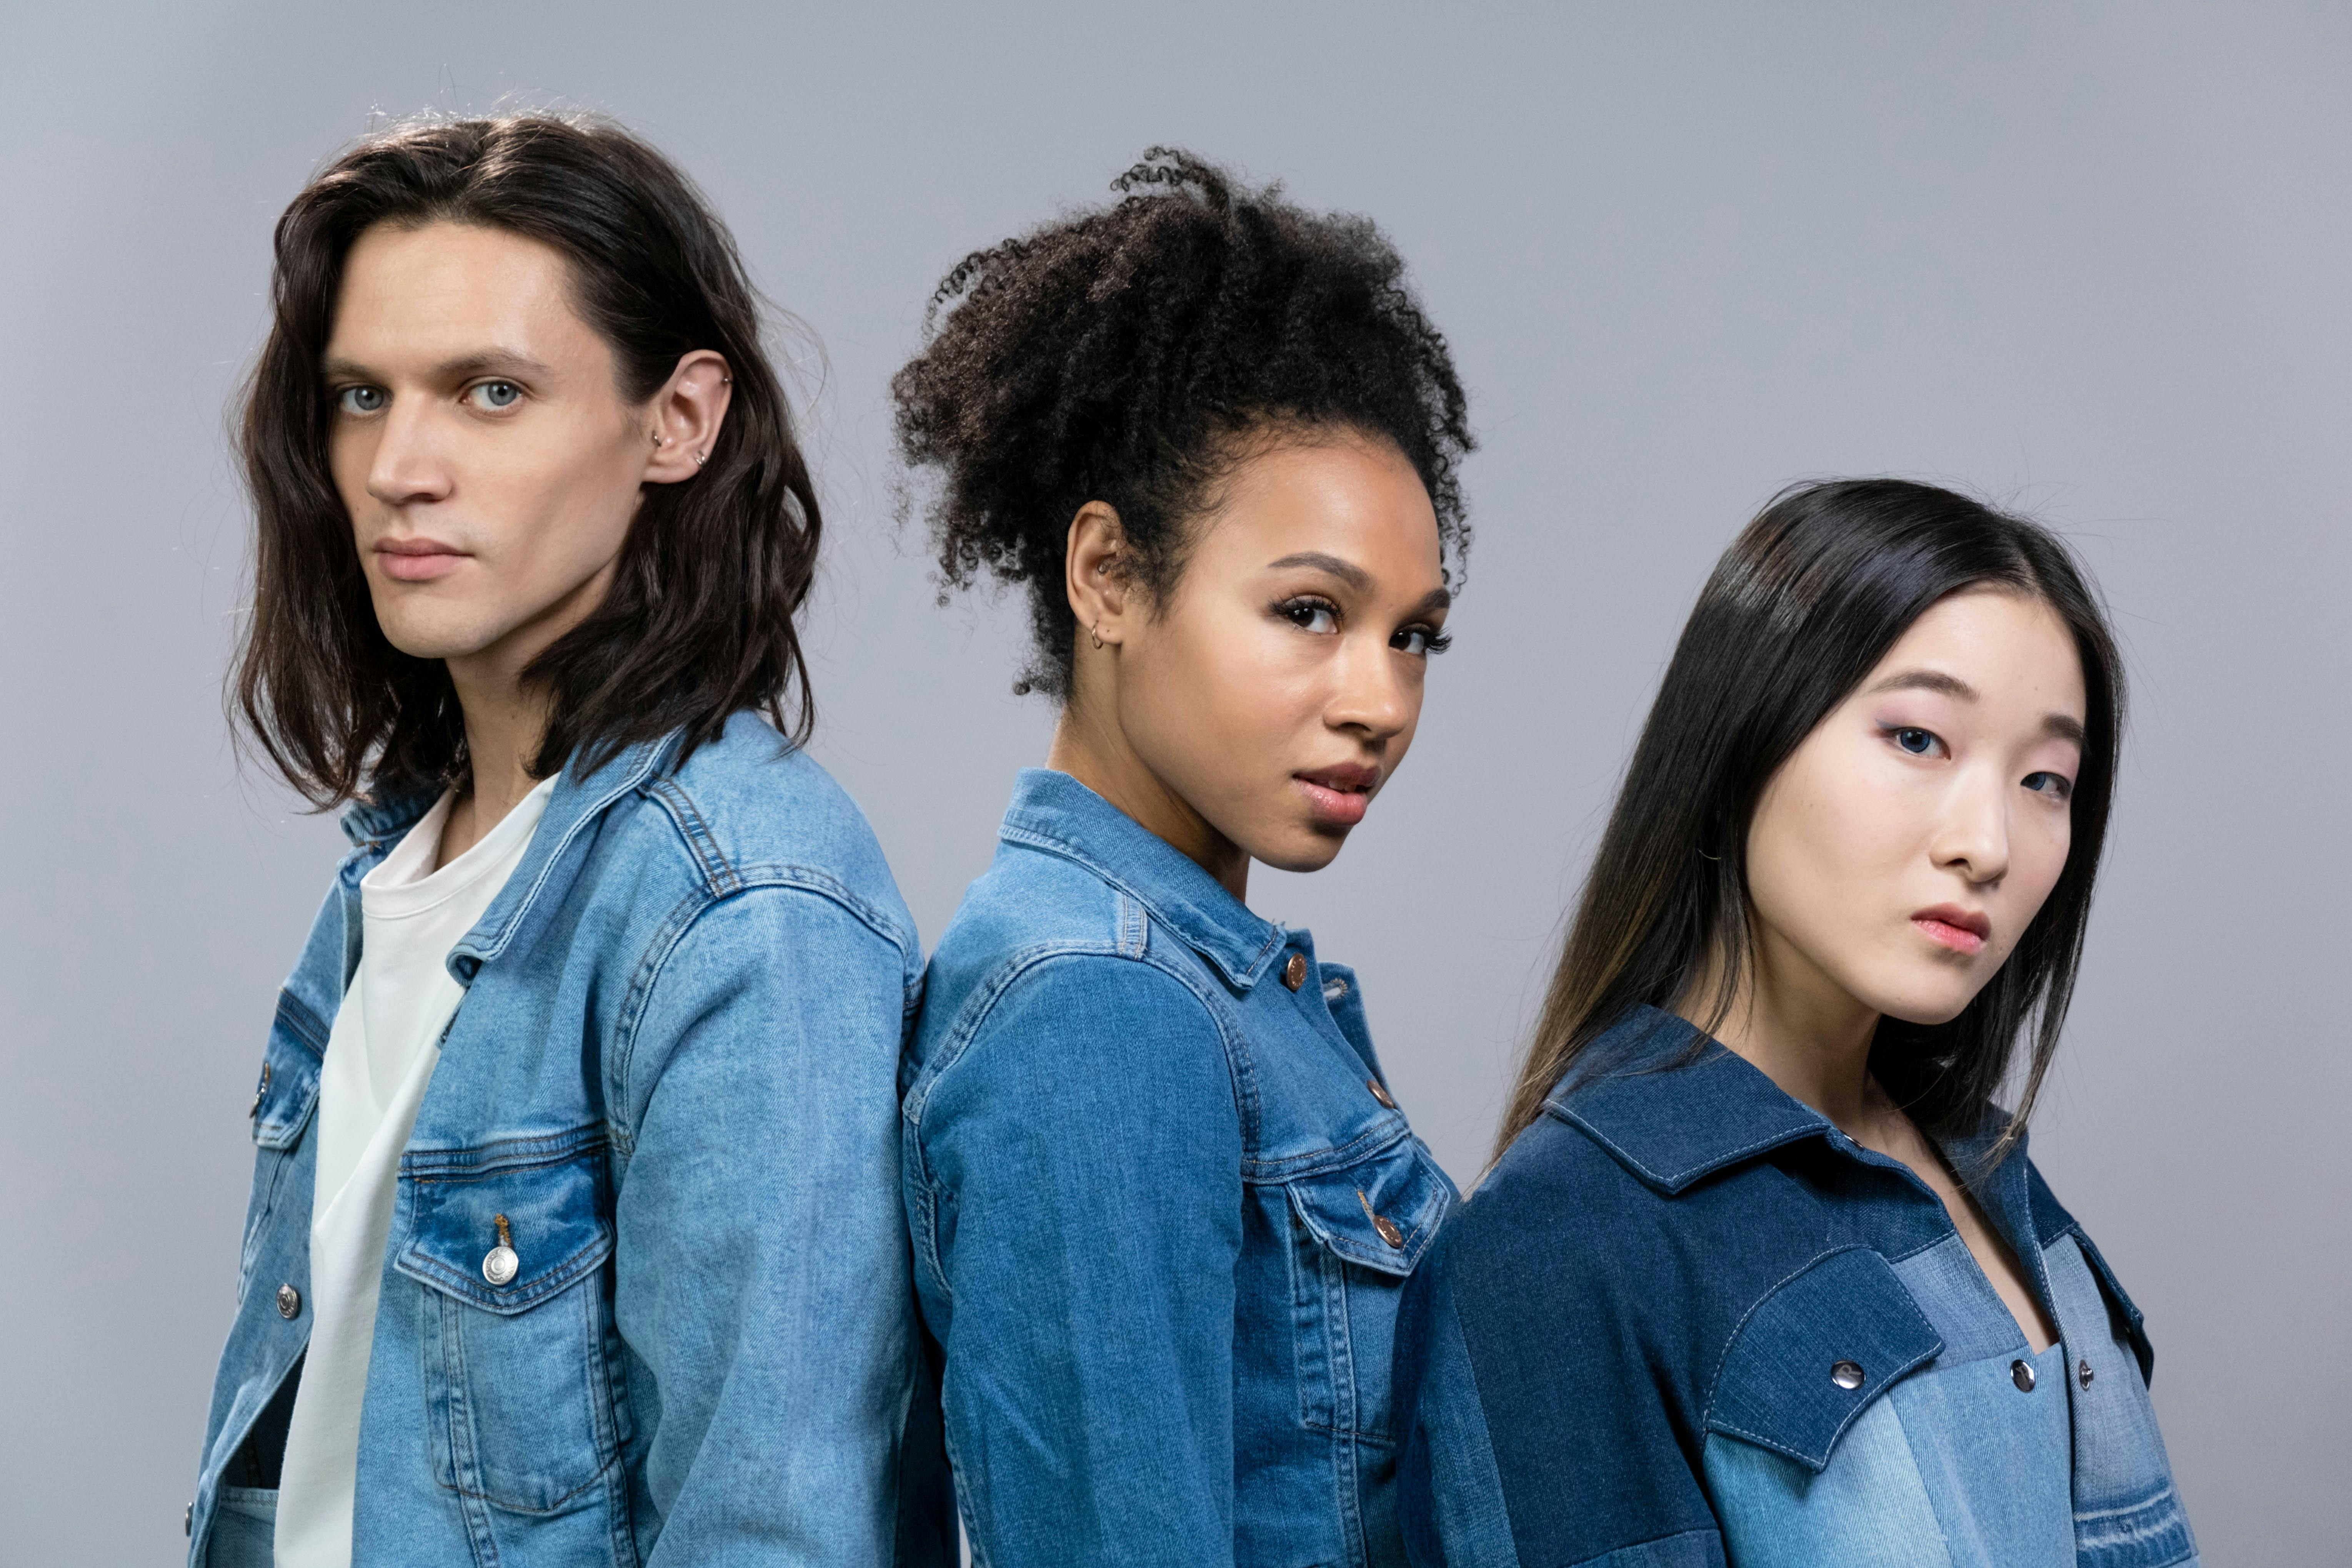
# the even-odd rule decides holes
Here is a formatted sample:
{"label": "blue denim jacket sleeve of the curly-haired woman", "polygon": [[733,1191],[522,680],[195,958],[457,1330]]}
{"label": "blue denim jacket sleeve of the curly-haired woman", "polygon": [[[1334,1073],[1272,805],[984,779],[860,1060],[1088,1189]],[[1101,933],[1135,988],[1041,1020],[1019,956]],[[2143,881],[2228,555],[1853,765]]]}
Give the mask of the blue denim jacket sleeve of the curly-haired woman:
{"label": "blue denim jacket sleeve of the curly-haired woman", "polygon": [[1242,1131],[1218,1023],[1110,954],[1033,959],[978,1009],[913,1138],[974,1561],[1232,1563]]}

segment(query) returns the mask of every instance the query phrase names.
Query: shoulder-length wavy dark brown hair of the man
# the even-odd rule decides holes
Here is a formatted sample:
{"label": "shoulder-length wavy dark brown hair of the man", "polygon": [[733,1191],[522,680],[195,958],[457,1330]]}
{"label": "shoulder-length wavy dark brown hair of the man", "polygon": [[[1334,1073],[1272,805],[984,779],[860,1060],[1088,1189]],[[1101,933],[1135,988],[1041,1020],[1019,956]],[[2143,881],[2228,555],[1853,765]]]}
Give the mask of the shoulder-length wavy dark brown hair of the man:
{"label": "shoulder-length wavy dark brown hair of the man", "polygon": [[546,778],[574,755],[595,769],[677,729],[691,752],[743,708],[807,741],[793,616],[821,520],[760,346],[760,294],[727,228],[668,158],[602,120],[428,120],[358,143],[278,219],[270,336],[242,418],[254,604],[233,684],[278,771],[322,809],[466,776],[449,670],[402,654],[376,625],[327,468],[320,357],[343,261],[374,223],[463,223],[553,247],[630,404],[691,350],[724,355],[734,376],[708,465],[647,487],[604,602],[524,672],[553,696],[532,771]]}

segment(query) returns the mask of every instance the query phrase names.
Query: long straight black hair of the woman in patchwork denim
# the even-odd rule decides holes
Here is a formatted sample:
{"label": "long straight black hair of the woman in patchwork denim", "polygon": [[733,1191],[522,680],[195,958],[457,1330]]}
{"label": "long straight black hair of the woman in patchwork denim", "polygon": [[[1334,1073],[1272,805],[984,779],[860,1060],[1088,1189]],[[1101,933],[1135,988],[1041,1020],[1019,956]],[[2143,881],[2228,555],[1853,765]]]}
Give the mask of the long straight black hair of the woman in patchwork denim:
{"label": "long straight black hair of the woman in patchwork denim", "polygon": [[1863,682],[1929,607],[1994,585],[2051,607],[2082,656],[2089,712],[2065,870],[2009,961],[1940,1025],[1882,1018],[1870,1072],[1938,1138],[1969,1138],[2032,1056],[1997,1161],[2032,1114],[2058,1048],[2091,919],[2091,882],[2114,802],[2124,675],[2114,635],[2065,543],[2037,522],[1905,480],[1832,480],[1783,491],[1724,552],[1682,628],[1642,726],[1496,1154],[1628,1009],[1672,1009],[1722,954],[1710,1030],[1752,969],[1748,825],[1790,752]]}

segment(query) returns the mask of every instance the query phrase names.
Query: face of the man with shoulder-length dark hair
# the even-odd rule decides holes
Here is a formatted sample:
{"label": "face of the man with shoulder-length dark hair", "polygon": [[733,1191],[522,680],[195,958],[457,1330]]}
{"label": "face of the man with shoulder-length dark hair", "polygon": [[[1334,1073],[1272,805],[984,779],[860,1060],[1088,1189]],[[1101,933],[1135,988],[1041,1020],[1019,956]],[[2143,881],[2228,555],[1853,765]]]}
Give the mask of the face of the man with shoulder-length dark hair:
{"label": "face of the man with shoulder-length dark hair", "polygon": [[602,602],[656,456],[564,259],[379,223],[343,263],[327,461],[383,635],[513,679]]}

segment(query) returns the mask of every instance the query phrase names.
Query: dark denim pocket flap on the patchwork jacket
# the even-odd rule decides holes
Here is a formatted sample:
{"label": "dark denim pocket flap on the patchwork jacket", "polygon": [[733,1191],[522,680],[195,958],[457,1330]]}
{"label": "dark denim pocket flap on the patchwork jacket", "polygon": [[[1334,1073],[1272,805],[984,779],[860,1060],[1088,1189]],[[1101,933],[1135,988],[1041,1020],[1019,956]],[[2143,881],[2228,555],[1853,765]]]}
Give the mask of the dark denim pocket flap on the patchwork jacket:
{"label": "dark denim pocket flap on the patchwork jacket", "polygon": [[1748,1309],[1724,1349],[1708,1429],[1830,1465],[1879,1394],[1943,1352],[1893,1267],[1867,1246],[1813,1258]]}

